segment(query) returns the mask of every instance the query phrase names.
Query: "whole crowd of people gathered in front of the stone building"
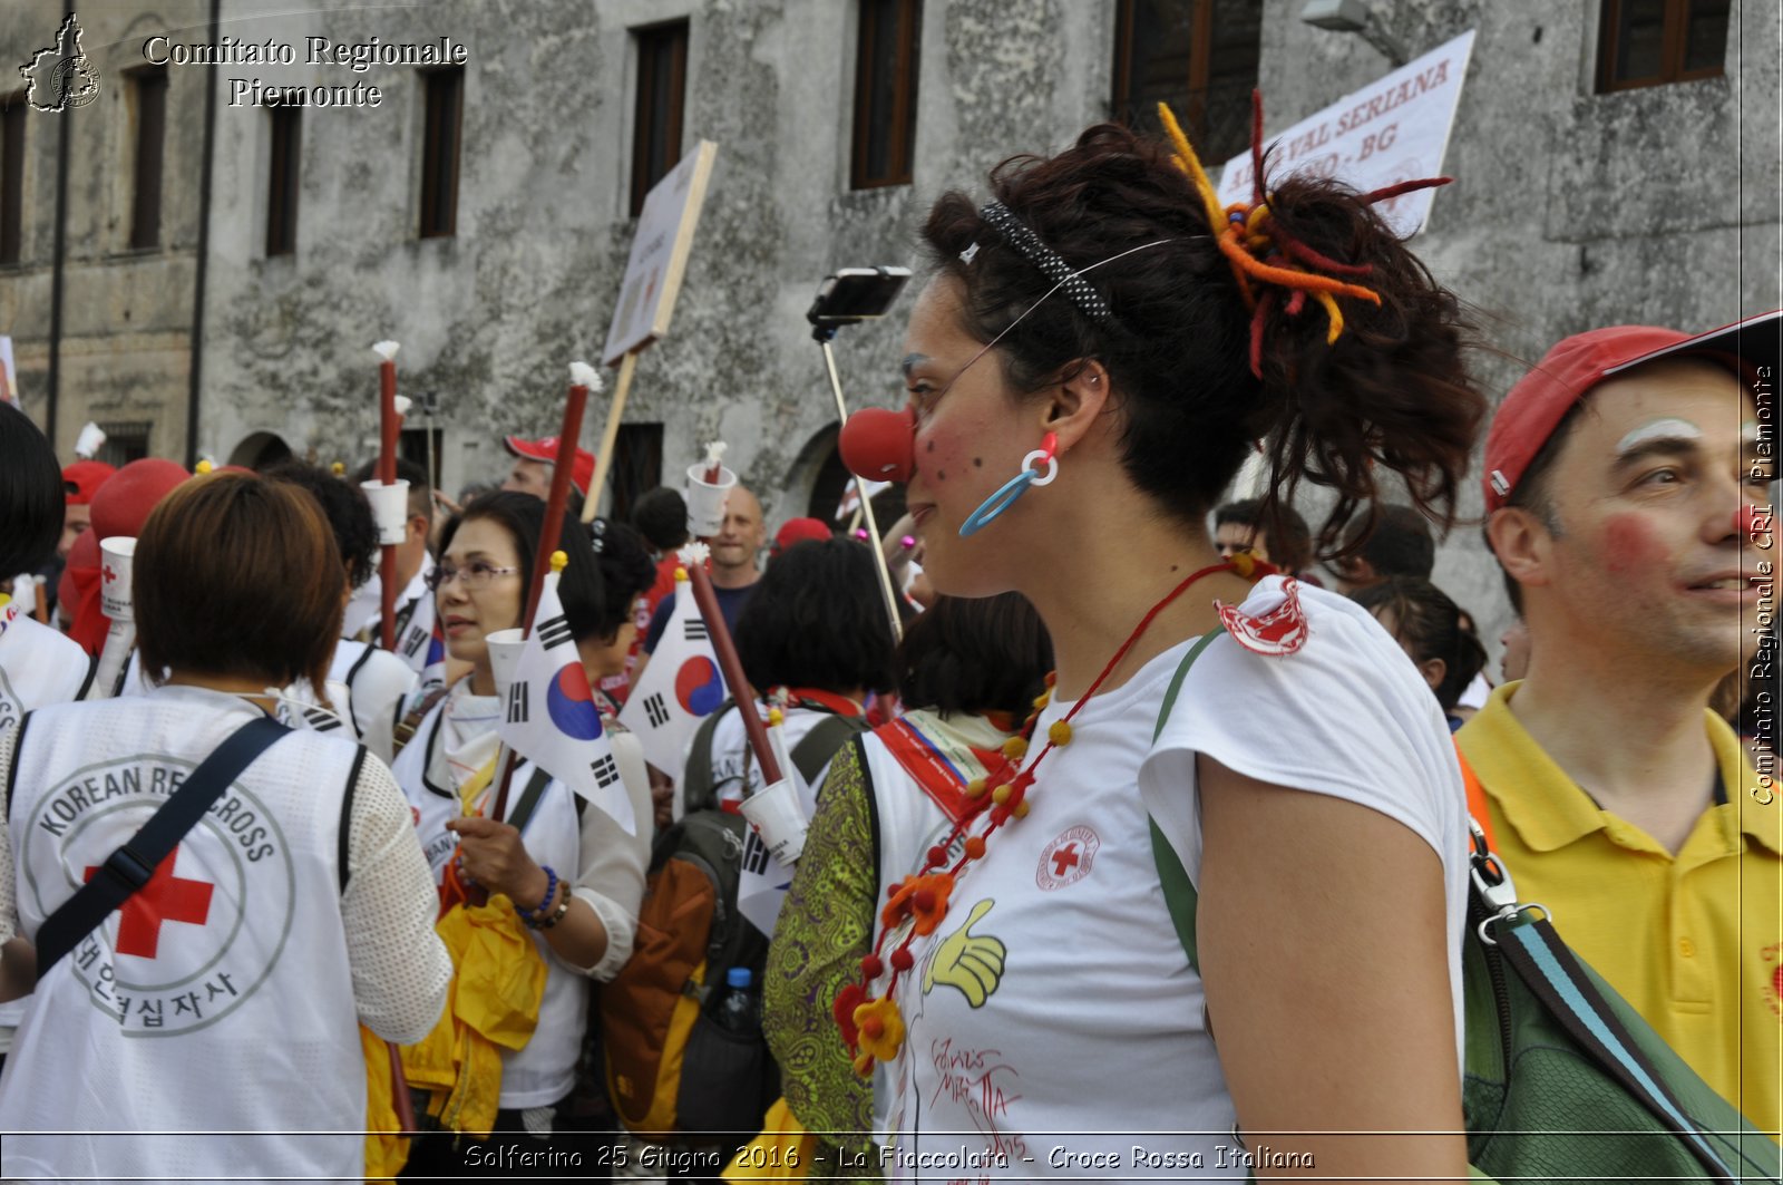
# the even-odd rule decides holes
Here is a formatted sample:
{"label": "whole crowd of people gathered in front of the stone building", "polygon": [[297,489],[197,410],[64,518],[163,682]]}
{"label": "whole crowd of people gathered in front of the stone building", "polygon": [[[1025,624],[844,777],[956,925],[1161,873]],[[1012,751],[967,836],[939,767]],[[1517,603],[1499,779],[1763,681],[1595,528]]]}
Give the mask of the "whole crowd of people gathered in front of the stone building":
{"label": "whole crowd of people gathered in front of the stone building", "polygon": [[[387,621],[371,462],[62,466],[0,403],[0,1173],[1464,1180],[1469,817],[1776,1140],[1778,316],[1576,334],[1492,410],[1371,195],[1223,209],[1116,125],[988,193],[922,228],[906,409],[843,434],[904,482],[883,541],[770,546],[742,485],[704,553],[670,489],[583,525],[594,457],[508,437],[456,501],[399,466]],[[1467,480],[1498,680],[1432,580]],[[551,551],[631,826],[505,760],[492,635]],[[665,764],[620,714],[690,566],[747,687]],[[724,823],[772,789],[751,716],[809,828],[669,985],[660,1130],[626,1001],[690,819],[776,880]]]}

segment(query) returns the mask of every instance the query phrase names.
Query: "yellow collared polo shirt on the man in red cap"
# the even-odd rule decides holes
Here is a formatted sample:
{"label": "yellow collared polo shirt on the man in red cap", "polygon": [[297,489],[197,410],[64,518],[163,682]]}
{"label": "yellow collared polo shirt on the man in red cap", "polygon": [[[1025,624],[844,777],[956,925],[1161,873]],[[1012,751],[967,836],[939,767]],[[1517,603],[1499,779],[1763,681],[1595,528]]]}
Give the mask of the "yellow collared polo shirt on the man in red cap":
{"label": "yellow collared polo shirt on the man in red cap", "polygon": [[[1765,787],[1735,732],[1706,712],[1726,803],[1674,857],[1596,803],[1492,692],[1457,733],[1492,812],[1517,898],[1753,1126],[1783,1128],[1783,785]],[[1630,721],[1630,728],[1639,728]],[[1769,801],[1767,801],[1769,800]]]}

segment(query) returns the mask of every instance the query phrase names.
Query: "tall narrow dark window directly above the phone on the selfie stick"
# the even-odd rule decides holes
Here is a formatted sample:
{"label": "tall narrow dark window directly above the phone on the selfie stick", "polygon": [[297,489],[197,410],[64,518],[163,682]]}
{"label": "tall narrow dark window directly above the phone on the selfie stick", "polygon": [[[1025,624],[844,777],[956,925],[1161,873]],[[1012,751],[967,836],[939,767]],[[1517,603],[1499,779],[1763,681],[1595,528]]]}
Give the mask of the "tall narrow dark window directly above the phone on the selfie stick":
{"label": "tall narrow dark window directly above the phone on the selfie stick", "polygon": [[849,186],[908,186],[916,153],[922,0],[861,0]]}

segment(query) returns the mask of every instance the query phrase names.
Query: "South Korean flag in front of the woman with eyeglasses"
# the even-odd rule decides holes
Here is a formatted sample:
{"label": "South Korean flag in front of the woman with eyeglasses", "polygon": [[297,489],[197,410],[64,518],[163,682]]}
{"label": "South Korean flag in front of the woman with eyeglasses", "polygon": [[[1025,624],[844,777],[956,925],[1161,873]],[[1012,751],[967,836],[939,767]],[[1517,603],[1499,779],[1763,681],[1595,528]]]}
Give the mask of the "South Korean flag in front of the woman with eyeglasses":
{"label": "South Korean flag in front of the woman with eyeglasses", "polygon": [[601,726],[556,587],[558,573],[547,575],[496,732],[515,753],[604,810],[628,835],[637,835],[613,742]]}

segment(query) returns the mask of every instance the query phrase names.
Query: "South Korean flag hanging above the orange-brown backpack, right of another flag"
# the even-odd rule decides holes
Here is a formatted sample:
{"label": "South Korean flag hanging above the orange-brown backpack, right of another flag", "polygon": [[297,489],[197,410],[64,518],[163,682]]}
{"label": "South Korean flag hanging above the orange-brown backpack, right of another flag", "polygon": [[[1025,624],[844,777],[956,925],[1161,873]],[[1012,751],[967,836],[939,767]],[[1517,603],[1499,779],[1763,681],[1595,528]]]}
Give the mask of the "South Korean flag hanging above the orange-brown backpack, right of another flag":
{"label": "South Korean flag hanging above the orange-brown backpack, right of another flag", "polygon": [[[683,553],[686,555],[686,553]],[[697,560],[695,560],[697,562]],[[711,648],[710,623],[699,616],[694,585],[676,571],[674,610],[644,678],[626,698],[619,723],[638,735],[644,760],[681,783],[681,762],[699,721],[724,703],[724,678]]]}

